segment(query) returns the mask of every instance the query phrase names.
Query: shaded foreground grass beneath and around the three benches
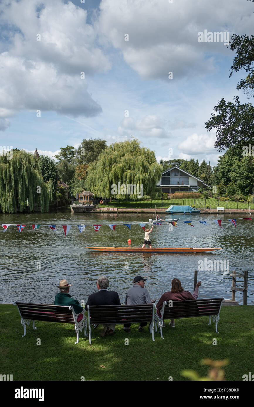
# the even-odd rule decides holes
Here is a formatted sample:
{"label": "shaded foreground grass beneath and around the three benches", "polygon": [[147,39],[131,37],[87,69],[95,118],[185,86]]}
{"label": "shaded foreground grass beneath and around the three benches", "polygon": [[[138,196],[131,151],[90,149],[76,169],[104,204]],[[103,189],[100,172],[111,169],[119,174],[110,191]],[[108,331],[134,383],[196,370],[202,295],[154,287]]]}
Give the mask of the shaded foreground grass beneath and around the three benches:
{"label": "shaded foreground grass beneath and around the three benches", "polygon": [[[99,337],[102,327],[92,329],[92,345],[80,336],[75,345],[74,324],[52,322],[23,327],[16,306],[0,304],[1,374],[13,374],[14,380],[113,380],[113,381],[173,381],[188,380],[181,376],[184,369],[206,376],[208,366],[201,359],[229,359],[223,369],[226,380],[242,381],[243,374],[253,371],[254,306],[224,306],[215,333],[215,323],[208,326],[208,317],[177,319],[175,328],[163,328],[163,337],[155,334],[152,341],[148,328],[139,333],[132,325],[124,333],[117,325],[114,336]],[[129,345],[125,345],[128,337]],[[37,338],[41,345],[36,345]],[[217,345],[212,345],[213,338]],[[104,366],[104,367],[101,367]]]}

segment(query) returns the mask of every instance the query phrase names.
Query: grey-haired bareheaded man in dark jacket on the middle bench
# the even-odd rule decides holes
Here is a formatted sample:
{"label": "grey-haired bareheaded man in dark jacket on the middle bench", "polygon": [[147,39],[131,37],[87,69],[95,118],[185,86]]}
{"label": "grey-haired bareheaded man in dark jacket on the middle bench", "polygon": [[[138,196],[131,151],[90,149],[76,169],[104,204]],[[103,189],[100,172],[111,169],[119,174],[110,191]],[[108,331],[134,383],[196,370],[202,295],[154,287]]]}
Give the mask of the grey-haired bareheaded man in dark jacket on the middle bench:
{"label": "grey-haired bareheaded man in dark jacket on the middle bench", "polygon": [[[89,295],[85,305],[86,311],[88,305],[121,305],[118,293],[116,291],[107,291],[109,285],[107,277],[99,277],[96,284],[98,291],[97,293]],[[101,337],[104,338],[107,333],[108,335],[114,335],[115,324],[104,325]]]}

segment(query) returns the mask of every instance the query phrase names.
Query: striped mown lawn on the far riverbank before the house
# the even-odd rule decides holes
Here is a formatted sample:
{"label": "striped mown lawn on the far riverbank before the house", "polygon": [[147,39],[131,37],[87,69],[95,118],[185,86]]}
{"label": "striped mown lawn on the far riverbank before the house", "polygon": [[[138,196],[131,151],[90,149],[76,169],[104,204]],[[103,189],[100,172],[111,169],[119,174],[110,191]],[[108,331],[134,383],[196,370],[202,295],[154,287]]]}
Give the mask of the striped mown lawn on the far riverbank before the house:
{"label": "striped mown lawn on the far riverbank before the house", "polygon": [[[195,201],[195,202],[194,202]],[[236,201],[218,201],[218,199],[215,198],[195,198],[195,199],[150,199],[148,201],[142,201],[142,200],[137,200],[137,201],[130,201],[130,200],[115,200],[112,202],[108,202],[108,204],[98,204],[98,207],[117,207],[117,208],[156,208],[161,209],[165,208],[167,209],[170,205],[195,205],[196,208],[205,208],[206,205],[212,206],[212,209],[217,208],[217,206],[223,206],[226,209],[249,209],[249,206],[251,209],[254,209],[254,204],[250,204],[248,202],[236,202]]]}

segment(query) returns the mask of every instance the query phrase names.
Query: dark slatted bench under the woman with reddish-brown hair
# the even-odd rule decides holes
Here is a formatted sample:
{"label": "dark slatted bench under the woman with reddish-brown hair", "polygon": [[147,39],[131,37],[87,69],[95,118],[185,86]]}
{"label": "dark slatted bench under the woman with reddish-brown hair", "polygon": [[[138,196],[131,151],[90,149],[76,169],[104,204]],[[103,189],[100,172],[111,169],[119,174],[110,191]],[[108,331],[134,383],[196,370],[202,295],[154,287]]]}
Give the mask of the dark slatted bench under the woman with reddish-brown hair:
{"label": "dark slatted bench under the woman with reddish-brown hair", "polygon": [[219,313],[221,311],[221,305],[224,298],[208,298],[204,300],[185,300],[185,301],[163,301],[161,309],[161,317],[157,311],[155,313],[155,332],[157,332],[157,325],[161,331],[163,328],[163,319],[179,319],[179,318],[192,318],[192,317],[209,317],[209,323],[211,324],[211,317],[215,322],[215,332],[217,330],[218,321],[220,319]]}

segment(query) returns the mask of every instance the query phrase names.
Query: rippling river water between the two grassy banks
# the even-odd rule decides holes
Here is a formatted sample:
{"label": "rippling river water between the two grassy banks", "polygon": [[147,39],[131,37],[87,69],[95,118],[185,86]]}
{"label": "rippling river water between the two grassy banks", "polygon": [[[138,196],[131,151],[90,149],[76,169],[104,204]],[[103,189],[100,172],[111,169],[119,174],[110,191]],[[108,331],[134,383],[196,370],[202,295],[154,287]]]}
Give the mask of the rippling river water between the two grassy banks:
{"label": "rippling river water between the two grassy banks", "polygon": [[[224,260],[229,270],[249,271],[247,304],[254,304],[254,221],[245,221],[236,217],[235,228],[225,214],[174,215],[179,217],[179,227],[169,230],[168,225],[155,226],[152,233],[154,247],[221,247],[218,252],[203,254],[126,254],[93,252],[86,246],[128,246],[131,239],[133,247],[140,247],[144,240],[144,231],[139,225],[132,224],[129,230],[117,225],[115,231],[107,224],[148,222],[151,214],[116,213],[74,213],[70,210],[58,210],[48,214],[1,214],[0,223],[25,224],[18,233],[15,225],[6,232],[0,231],[0,303],[26,301],[52,304],[56,287],[62,278],[73,286],[70,294],[86,302],[88,295],[96,292],[96,280],[100,275],[109,279],[109,290],[117,291],[124,302],[126,291],[132,286],[135,276],[147,278],[145,287],[152,299],[159,300],[161,294],[169,291],[171,280],[177,277],[184,289],[193,290],[194,270],[200,267],[200,260]],[[167,217],[170,217],[167,215]],[[223,219],[222,228],[213,220]],[[194,228],[183,223],[192,220]],[[199,223],[205,220],[209,225]],[[38,230],[32,230],[31,224],[41,224]],[[79,233],[78,224],[87,224]],[[57,230],[47,225],[56,224]],[[64,237],[62,224],[73,225]],[[93,224],[102,224],[95,232]],[[148,225],[147,225],[148,226]],[[199,263],[198,263],[199,262]],[[229,263],[226,263],[229,262]],[[198,281],[202,284],[199,298],[231,298],[232,277],[227,269],[198,272]],[[243,287],[243,278],[236,278],[236,287]],[[243,293],[236,291],[236,301],[243,303]]]}

